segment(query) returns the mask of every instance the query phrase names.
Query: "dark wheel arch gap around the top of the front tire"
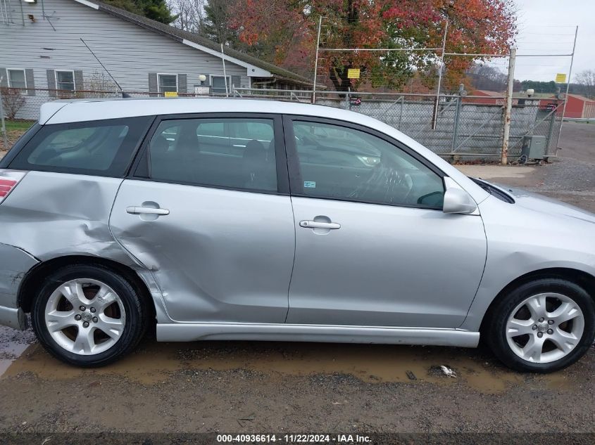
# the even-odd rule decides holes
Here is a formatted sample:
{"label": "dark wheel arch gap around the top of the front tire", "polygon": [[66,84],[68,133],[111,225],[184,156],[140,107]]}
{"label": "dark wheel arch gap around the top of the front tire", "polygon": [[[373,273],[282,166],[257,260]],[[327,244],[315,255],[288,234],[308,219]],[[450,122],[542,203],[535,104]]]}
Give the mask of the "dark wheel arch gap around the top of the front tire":
{"label": "dark wheel arch gap around the top of the front tire", "polygon": [[582,288],[584,288],[584,290],[586,290],[591,298],[595,301],[595,276],[592,276],[590,273],[581,271],[579,269],[565,267],[552,267],[531,271],[512,280],[510,283],[504,286],[500,292],[498,292],[498,295],[496,295],[493,300],[491,300],[491,303],[489,304],[489,307],[482,318],[480,332],[484,332],[486,324],[489,323],[492,314],[494,313],[494,307],[496,307],[496,304],[500,301],[503,295],[506,295],[513,289],[518,288],[520,285],[529,283],[530,281],[537,280],[539,278],[563,278],[564,280],[571,281],[572,283],[580,285]]}

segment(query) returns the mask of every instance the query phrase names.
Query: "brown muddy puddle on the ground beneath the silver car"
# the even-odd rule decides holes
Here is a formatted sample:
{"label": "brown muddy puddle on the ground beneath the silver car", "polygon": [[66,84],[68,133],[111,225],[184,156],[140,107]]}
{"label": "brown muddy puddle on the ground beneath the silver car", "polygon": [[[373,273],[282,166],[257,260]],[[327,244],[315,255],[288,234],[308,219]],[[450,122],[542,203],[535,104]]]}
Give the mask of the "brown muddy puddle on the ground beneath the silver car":
{"label": "brown muddy puddle on the ground beneath the silver car", "polygon": [[[30,372],[46,380],[68,380],[96,375],[118,375],[142,385],[158,385],[178,371],[249,370],[275,378],[283,375],[348,374],[364,382],[402,382],[418,385],[463,384],[484,394],[499,394],[524,384],[526,375],[503,368],[474,349],[408,347],[378,344],[275,342],[158,343],[145,341],[136,352],[111,366],[80,369],[65,365],[33,344],[8,367],[4,375]],[[456,371],[456,378],[440,366]],[[572,390],[575,382],[564,371],[532,376],[544,389]]]}

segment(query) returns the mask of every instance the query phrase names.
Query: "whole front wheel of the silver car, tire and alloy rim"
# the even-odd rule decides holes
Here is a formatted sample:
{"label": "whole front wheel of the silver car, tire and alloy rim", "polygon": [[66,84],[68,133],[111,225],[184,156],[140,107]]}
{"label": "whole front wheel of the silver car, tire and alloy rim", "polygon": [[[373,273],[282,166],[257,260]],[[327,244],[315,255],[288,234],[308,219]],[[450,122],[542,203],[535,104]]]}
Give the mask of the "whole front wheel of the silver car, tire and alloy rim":
{"label": "whole front wheel of the silver car, tire and alloy rim", "polygon": [[541,278],[505,295],[482,335],[515,370],[550,373],[580,359],[595,337],[595,304],[579,285]]}

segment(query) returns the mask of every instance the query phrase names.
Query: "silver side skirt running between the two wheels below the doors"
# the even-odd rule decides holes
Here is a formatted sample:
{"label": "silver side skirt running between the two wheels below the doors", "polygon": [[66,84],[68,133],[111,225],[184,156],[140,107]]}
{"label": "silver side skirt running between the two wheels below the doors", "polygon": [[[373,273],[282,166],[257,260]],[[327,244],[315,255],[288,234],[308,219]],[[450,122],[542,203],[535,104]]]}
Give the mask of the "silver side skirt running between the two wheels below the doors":
{"label": "silver side skirt running between the two wheels below the doors", "polygon": [[459,329],[283,323],[157,323],[159,342],[257,340],[282,342],[427,344],[477,347],[480,333]]}

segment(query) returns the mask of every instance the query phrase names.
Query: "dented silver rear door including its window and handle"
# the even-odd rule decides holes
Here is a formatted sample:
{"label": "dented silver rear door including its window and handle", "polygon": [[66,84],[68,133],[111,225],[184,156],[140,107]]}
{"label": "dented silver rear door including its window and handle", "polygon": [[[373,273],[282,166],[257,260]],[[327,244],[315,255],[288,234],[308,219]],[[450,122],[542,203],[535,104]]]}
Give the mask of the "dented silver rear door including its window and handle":
{"label": "dented silver rear door including its window and handle", "polygon": [[174,321],[283,323],[295,234],[280,117],[153,128],[115,199],[113,235],[154,273]]}

